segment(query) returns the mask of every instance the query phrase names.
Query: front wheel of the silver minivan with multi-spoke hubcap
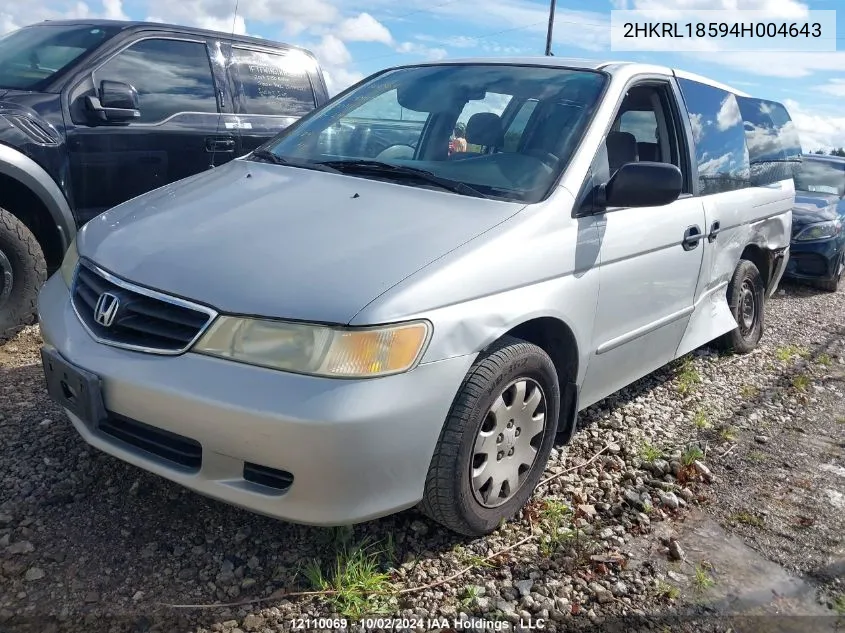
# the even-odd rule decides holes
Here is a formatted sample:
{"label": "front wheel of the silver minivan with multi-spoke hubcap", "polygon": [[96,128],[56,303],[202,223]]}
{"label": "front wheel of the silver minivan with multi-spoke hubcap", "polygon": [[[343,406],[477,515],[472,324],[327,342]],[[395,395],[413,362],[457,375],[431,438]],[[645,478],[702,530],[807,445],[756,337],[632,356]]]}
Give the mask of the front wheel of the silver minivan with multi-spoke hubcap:
{"label": "front wheel of the silver minivan with multi-spoke hubcap", "polygon": [[[536,390],[540,390],[533,412],[530,406],[510,408],[517,402],[520,384],[525,385],[523,403],[532,402],[532,406],[532,397],[536,398]],[[494,404],[500,411],[498,417],[491,410]],[[536,418],[540,412],[544,419],[538,431]],[[481,536],[494,531],[533,493],[555,441],[559,413],[560,386],[552,360],[536,345],[503,337],[476,360],[464,378],[437,441],[421,510],[459,534]],[[521,429],[528,424],[535,432],[529,430],[523,435]],[[476,440],[485,442],[486,451],[496,452],[488,453],[483,468],[479,461],[483,453],[477,452]],[[531,465],[524,466],[532,455]],[[475,480],[471,473],[474,464],[482,473]],[[494,479],[486,480],[486,491],[478,485],[497,468],[511,474],[503,478],[498,495]],[[515,482],[515,490],[505,485],[509,481]]]}

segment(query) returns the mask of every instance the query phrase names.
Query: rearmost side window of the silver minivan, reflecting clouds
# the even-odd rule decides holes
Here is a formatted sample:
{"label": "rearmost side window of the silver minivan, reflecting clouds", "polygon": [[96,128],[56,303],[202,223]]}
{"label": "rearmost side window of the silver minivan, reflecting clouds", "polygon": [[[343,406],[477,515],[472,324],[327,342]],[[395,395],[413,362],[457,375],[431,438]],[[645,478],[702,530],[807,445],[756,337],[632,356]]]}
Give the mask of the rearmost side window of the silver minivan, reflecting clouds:
{"label": "rearmost side window of the silver minivan, reflecting clouds", "polygon": [[801,143],[789,113],[781,104],[737,97],[748,145],[751,184],[789,180],[801,162]]}

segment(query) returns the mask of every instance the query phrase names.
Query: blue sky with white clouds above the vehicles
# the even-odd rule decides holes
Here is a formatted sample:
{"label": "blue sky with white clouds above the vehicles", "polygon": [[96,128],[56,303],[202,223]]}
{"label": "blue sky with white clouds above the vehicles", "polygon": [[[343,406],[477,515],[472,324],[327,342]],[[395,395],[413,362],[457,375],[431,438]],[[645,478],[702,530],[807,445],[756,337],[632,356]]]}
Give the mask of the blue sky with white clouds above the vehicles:
{"label": "blue sky with white clouds above the vehicles", "polygon": [[[38,0],[3,3],[0,33],[45,19],[152,20],[235,31],[304,46],[331,92],[388,66],[450,57],[543,55],[549,0]],[[773,17],[837,9],[828,53],[613,52],[612,9],[765,11]],[[845,2],[842,0],[558,0],[559,57],[657,63],[784,103],[805,150],[845,146]]]}

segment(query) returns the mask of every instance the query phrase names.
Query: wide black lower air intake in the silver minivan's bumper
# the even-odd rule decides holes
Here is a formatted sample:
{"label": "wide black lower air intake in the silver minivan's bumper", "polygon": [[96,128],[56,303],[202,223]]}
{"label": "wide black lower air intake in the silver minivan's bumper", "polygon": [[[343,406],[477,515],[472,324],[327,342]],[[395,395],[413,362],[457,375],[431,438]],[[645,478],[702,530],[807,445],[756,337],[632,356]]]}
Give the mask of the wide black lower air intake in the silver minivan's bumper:
{"label": "wide black lower air intake in the silver minivan's bumper", "polygon": [[196,440],[109,412],[98,428],[126,444],[190,470],[202,465],[202,446]]}

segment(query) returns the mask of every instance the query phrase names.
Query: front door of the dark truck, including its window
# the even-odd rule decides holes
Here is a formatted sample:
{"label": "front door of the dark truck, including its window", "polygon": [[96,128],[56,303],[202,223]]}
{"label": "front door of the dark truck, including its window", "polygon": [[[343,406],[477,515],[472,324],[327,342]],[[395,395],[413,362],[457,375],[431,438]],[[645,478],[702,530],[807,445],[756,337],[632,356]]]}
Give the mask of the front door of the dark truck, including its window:
{"label": "front door of the dark truck, including its window", "polygon": [[[71,182],[78,220],[219,165],[237,139],[221,124],[221,93],[205,40],[174,35],[136,39],[99,65],[69,95]],[[133,86],[141,116],[107,123],[85,109],[103,80]]]}

